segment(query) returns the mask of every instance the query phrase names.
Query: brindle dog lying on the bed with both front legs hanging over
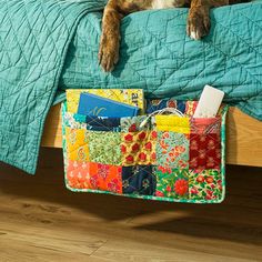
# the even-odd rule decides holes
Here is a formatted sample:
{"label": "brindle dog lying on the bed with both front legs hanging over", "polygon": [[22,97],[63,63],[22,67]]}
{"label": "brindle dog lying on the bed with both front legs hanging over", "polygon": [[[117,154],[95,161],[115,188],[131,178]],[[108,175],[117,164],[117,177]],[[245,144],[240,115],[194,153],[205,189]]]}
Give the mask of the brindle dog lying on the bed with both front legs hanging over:
{"label": "brindle dog lying on the bed with both front legs hanging over", "polygon": [[209,11],[214,7],[222,7],[246,0],[109,0],[103,12],[102,36],[99,49],[99,62],[105,72],[113,70],[119,60],[120,22],[132,12],[161,9],[190,7],[187,32],[188,36],[199,40],[210,30]]}

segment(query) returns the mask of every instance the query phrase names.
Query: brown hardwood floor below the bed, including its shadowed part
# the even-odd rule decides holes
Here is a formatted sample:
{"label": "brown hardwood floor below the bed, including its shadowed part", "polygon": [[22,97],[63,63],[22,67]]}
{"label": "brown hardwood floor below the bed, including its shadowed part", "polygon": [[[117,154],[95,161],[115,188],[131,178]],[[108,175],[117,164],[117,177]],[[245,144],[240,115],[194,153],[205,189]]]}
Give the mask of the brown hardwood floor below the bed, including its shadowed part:
{"label": "brown hardwood floor below the bed, including its shadowed part", "polygon": [[60,150],[37,175],[0,164],[0,262],[262,261],[262,169],[228,167],[219,205],[72,193]]}

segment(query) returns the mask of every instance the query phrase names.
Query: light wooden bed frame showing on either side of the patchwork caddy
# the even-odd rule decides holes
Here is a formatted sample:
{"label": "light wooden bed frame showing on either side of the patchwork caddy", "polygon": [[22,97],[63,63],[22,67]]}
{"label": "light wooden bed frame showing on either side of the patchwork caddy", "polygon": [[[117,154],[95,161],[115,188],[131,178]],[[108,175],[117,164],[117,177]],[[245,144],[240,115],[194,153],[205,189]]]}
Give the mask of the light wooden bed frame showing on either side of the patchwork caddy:
{"label": "light wooden bed frame showing on either side of the patchwork caddy", "polygon": [[[42,147],[62,147],[61,105],[50,110]],[[262,167],[262,122],[230,108],[226,123],[226,163]]]}

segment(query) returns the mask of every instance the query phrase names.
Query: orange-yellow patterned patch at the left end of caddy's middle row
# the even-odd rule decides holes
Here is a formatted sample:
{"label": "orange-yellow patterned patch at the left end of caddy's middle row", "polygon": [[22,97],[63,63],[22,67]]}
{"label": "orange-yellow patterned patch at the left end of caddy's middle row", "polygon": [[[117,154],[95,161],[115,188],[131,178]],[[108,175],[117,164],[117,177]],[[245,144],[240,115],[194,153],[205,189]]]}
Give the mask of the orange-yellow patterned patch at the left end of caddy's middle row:
{"label": "orange-yellow patterned patch at the left end of caddy's middle row", "polygon": [[68,159],[72,161],[89,161],[89,131],[85,129],[66,128]]}

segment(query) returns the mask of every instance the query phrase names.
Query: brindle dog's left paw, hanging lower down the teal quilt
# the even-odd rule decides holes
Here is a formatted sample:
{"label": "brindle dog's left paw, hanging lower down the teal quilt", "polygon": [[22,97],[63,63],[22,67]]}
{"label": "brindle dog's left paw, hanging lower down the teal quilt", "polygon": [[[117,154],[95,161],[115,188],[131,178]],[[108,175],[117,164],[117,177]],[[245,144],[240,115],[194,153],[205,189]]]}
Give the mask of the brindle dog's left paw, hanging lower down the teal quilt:
{"label": "brindle dog's left paw, hanging lower down the teal quilt", "polygon": [[105,72],[111,72],[119,61],[119,42],[104,41],[100,42],[99,63]]}

